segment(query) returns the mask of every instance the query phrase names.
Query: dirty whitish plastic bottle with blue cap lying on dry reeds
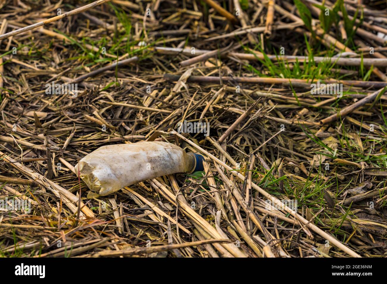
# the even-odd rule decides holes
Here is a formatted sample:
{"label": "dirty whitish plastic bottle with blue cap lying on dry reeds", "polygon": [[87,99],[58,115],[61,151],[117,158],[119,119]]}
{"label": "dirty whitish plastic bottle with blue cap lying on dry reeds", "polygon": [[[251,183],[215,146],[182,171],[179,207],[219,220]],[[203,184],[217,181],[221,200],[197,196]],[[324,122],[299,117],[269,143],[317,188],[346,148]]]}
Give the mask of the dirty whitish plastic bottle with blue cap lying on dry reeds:
{"label": "dirty whitish plastic bottle with blue cap lying on dry reeds", "polygon": [[203,170],[202,155],[167,142],[102,146],[75,165],[75,173],[100,196],[125,186],[173,173]]}

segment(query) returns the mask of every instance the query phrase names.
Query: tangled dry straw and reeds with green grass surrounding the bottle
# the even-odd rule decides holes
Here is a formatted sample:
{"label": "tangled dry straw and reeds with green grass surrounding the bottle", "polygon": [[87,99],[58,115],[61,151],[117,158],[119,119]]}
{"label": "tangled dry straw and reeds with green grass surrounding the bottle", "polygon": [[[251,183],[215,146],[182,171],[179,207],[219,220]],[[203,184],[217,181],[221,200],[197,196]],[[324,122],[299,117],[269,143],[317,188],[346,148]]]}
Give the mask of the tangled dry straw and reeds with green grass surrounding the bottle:
{"label": "tangled dry straw and reeds with green grass surrounding the bottle", "polygon": [[[0,2],[0,34],[89,3]],[[385,1],[104,2],[1,40],[1,256],[386,256]],[[88,195],[80,158],[145,140],[205,171]]]}

